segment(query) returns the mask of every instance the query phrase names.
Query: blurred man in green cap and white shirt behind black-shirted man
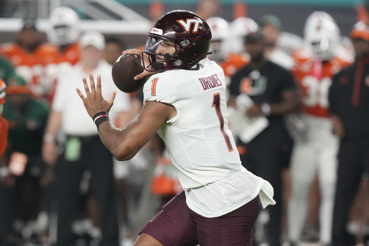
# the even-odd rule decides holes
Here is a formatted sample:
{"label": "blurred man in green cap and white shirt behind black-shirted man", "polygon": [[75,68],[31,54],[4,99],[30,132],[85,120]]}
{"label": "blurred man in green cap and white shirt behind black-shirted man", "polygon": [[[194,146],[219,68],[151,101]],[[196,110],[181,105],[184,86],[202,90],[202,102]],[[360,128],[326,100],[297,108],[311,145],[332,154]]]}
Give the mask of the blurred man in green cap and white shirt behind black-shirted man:
{"label": "blurred man in green cap and white shirt behind black-shirted man", "polygon": [[265,57],[291,70],[294,65],[293,59],[277,47],[277,40],[282,29],[281,20],[275,15],[264,15],[259,25],[265,42]]}

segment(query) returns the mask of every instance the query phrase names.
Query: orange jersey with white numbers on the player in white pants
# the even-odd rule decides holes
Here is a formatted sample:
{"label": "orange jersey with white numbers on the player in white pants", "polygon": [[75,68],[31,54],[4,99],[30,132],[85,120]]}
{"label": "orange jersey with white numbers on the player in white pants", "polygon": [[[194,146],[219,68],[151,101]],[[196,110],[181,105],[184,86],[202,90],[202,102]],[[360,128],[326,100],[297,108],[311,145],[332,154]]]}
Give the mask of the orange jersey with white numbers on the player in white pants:
{"label": "orange jersey with white numbers on the player in white pants", "polygon": [[350,63],[338,57],[325,62],[314,60],[307,49],[295,50],[293,59],[296,63],[293,73],[301,89],[303,112],[328,117],[328,90],[332,77]]}

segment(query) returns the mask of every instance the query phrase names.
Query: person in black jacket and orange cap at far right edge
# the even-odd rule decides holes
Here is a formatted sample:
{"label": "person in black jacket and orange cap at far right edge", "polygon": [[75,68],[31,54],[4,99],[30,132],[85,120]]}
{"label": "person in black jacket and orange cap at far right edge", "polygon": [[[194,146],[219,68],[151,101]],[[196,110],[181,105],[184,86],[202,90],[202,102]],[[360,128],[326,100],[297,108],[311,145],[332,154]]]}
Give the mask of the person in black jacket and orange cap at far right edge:
{"label": "person in black jacket and orange cap at far right edge", "polygon": [[346,231],[349,208],[363,173],[369,173],[369,28],[362,22],[351,32],[355,62],[332,80],[329,111],[340,138],[332,243],[355,245]]}

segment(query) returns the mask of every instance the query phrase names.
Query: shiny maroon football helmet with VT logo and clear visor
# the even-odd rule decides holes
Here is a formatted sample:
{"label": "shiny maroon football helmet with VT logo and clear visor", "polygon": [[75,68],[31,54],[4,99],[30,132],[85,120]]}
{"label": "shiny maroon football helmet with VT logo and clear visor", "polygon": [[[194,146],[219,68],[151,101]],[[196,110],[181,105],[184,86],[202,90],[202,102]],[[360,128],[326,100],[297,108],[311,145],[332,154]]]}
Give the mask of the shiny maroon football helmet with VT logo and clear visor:
{"label": "shiny maroon football helmet with VT logo and clear visor", "polygon": [[[149,56],[144,64],[149,72],[163,72],[196,65],[211,54],[209,51],[211,31],[206,21],[187,10],[170,11],[156,22],[148,34],[142,55]],[[163,46],[170,53],[164,53]],[[148,67],[151,65],[151,70]]]}

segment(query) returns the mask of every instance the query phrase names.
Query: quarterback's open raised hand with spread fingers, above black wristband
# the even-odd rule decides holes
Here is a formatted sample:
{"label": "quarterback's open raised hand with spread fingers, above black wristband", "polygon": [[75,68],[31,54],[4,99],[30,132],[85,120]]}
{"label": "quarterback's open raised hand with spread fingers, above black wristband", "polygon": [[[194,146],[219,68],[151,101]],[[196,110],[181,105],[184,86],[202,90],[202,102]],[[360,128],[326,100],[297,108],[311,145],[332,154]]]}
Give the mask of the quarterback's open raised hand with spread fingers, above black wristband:
{"label": "quarterback's open raised hand with spread fingers, above black wristband", "polygon": [[117,92],[114,91],[113,93],[110,94],[109,100],[105,100],[103,98],[103,95],[101,94],[101,76],[97,75],[96,88],[93,75],[90,73],[89,76],[90,76],[91,92],[89,86],[87,85],[86,78],[83,78],[83,85],[85,86],[86,97],[83,96],[82,92],[78,88],[76,88],[76,91],[80,96],[80,98],[82,99],[83,104],[86,107],[87,113],[92,118],[98,112],[104,111],[108,113],[110,111],[111,106],[113,106],[115,94],[117,94]]}

